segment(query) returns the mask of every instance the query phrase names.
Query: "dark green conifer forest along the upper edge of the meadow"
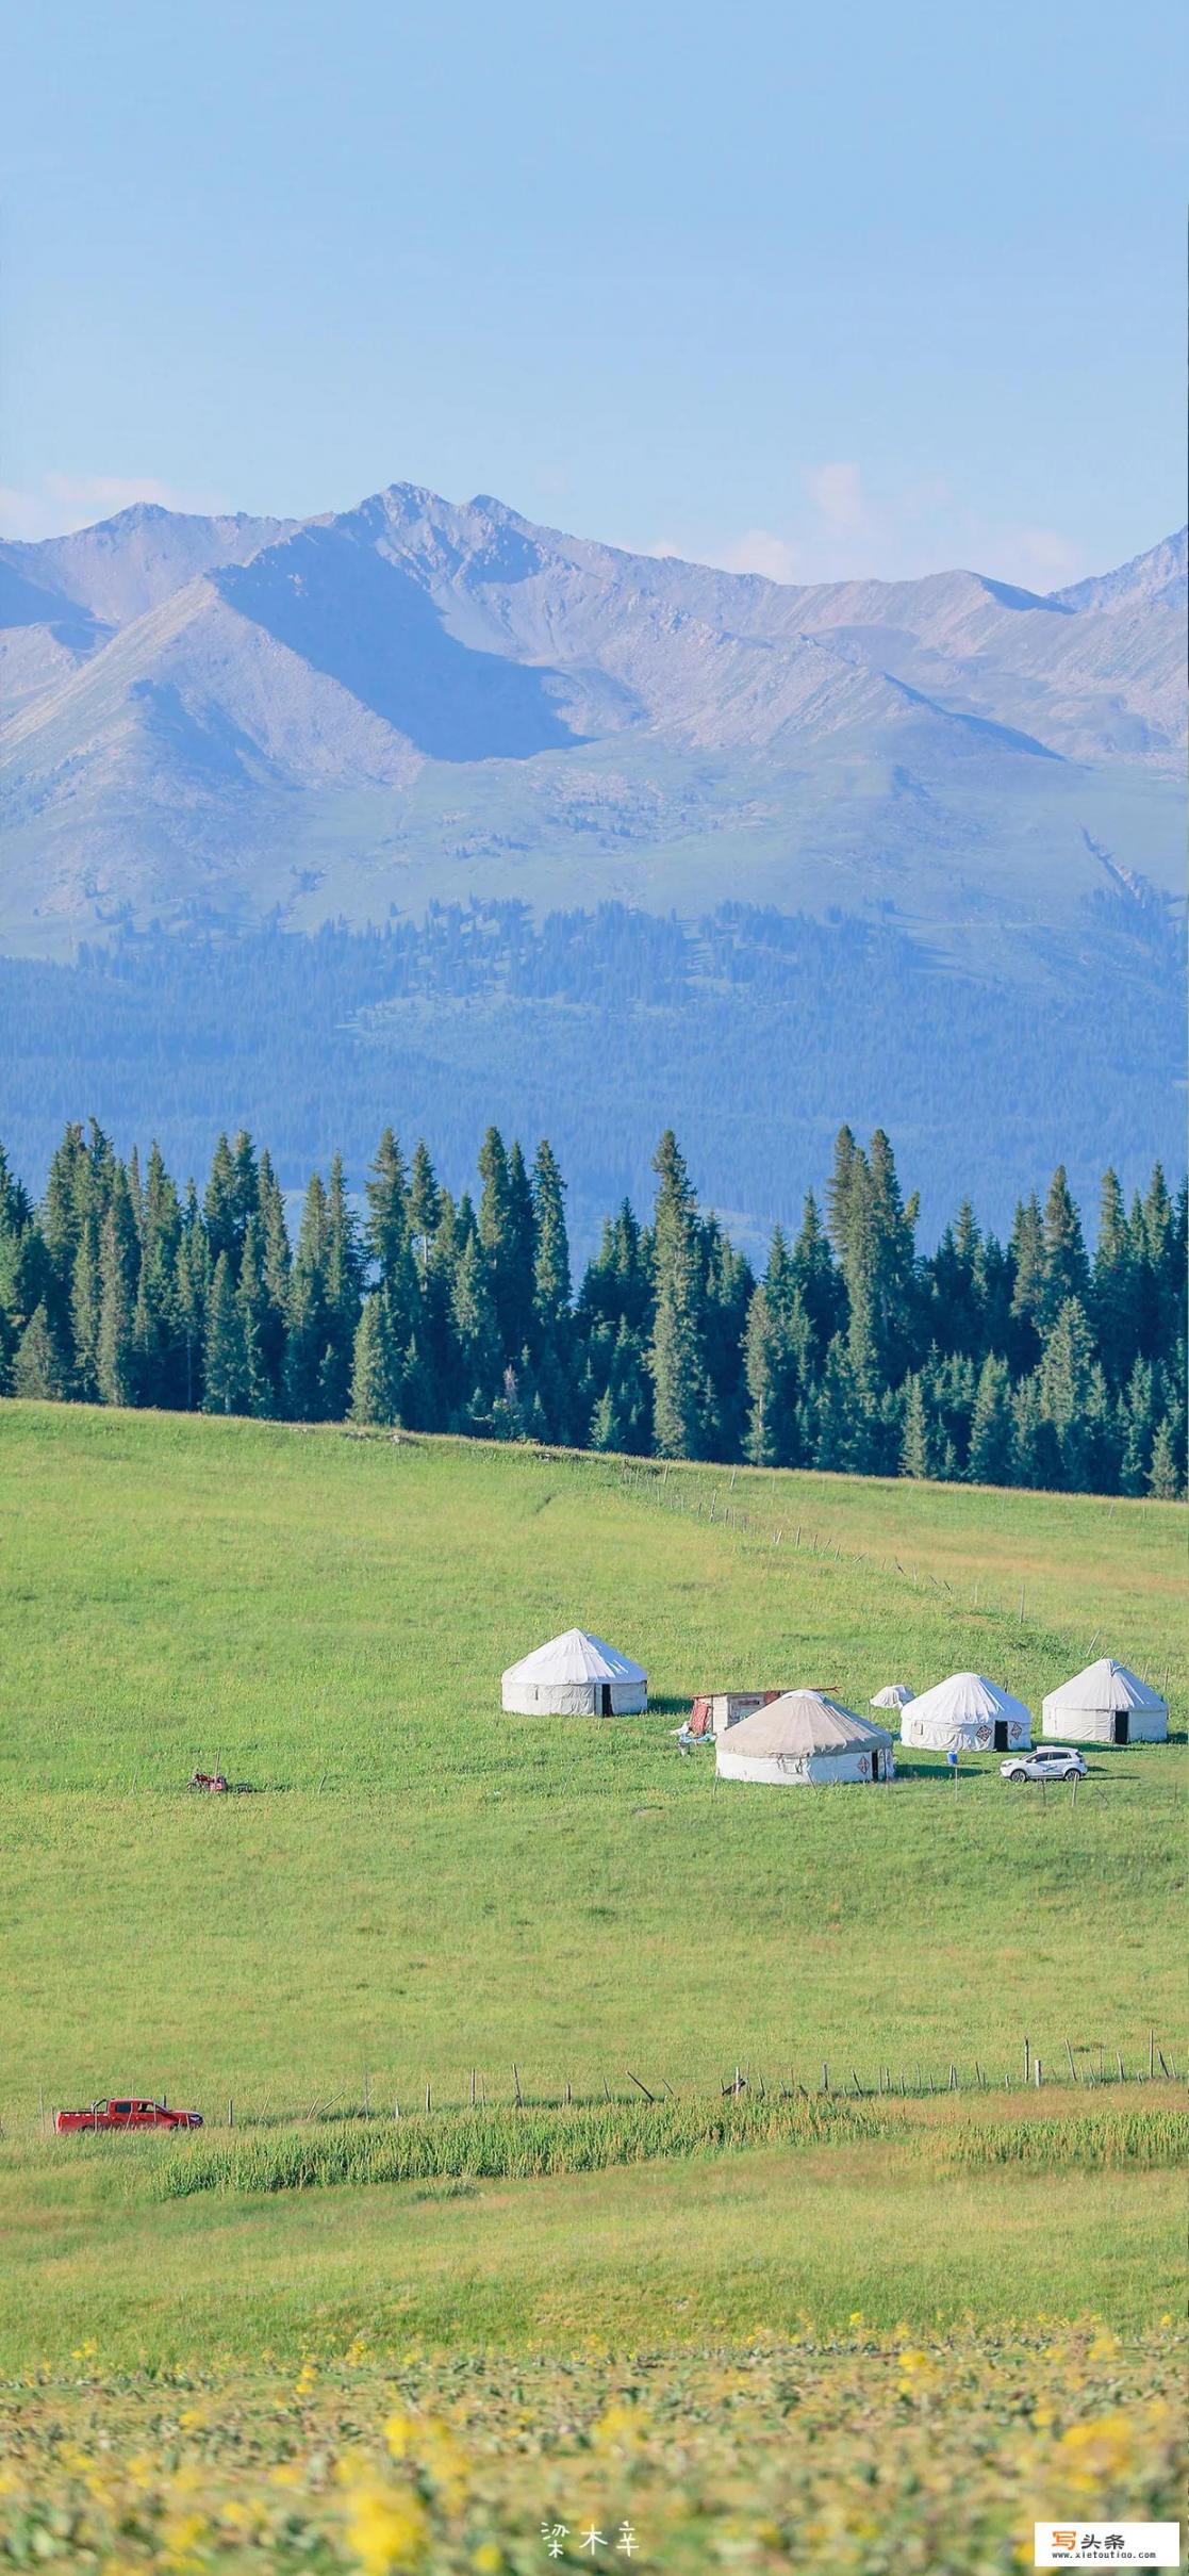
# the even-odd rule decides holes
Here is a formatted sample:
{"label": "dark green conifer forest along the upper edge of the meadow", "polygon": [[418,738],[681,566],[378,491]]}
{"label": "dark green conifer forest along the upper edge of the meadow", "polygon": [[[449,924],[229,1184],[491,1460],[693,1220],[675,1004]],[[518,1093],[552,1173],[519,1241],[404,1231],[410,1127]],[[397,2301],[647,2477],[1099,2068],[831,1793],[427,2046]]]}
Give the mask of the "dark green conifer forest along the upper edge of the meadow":
{"label": "dark green conifer forest along the upper edge of the meadow", "polygon": [[654,1172],[651,1218],[607,1216],[574,1293],[546,1141],[528,1167],[492,1126],[453,1198],[386,1128],[363,1206],[335,1159],[291,1239],[247,1133],[198,1195],[157,1146],[67,1126],[41,1203],[0,1151],[0,1394],[1184,1494],[1186,1190],[1161,1167],[1130,1208],[1104,1175],[1094,1252],[1058,1167],[1009,1242],[963,1203],[921,1255],[888,1136],[844,1126],[759,1278],[672,1131]]}

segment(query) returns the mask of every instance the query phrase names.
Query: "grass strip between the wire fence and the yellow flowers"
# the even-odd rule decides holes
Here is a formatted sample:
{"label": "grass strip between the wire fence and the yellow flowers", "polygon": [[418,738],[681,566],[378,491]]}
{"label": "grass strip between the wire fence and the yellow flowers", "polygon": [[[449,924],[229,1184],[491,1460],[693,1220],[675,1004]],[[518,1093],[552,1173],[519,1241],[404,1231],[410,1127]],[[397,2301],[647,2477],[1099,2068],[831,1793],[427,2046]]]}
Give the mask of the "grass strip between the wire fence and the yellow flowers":
{"label": "grass strip between the wire fence and the yellow flowers", "polygon": [[358,2331],[378,2349],[566,2352],[592,2334],[705,2349],[839,2334],[854,2316],[878,2331],[1104,2316],[1135,2334],[1176,2306],[1184,2138],[1168,2115],[1156,2164],[1094,2166],[1089,2151],[1073,2174],[1060,2154],[996,2166],[968,2115],[924,2110],[875,2138],[538,2182],[167,2202],[160,2143],[8,2148],[0,2372],[64,2370],[88,2339],[106,2367],[167,2370],[260,2347],[296,2362]]}

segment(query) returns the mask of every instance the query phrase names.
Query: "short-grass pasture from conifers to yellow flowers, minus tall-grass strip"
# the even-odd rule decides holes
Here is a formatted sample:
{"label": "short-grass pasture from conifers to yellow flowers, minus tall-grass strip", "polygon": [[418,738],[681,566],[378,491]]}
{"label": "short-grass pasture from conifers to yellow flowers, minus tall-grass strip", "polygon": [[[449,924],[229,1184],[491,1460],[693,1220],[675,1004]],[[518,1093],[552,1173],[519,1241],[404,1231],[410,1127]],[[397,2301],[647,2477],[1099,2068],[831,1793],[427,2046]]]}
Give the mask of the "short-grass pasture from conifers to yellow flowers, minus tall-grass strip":
{"label": "short-grass pasture from conifers to yellow flowers, minus tall-grass strip", "polygon": [[[1014,2161],[942,2174],[914,2123],[996,2112],[975,2061],[1001,2092],[1024,2030],[1050,2076],[1073,2045],[1065,2112],[1163,2099],[1086,2081],[1099,2043],[1145,2071],[1150,2025],[1184,2074],[1181,1744],[1094,1754],[1076,1801],[914,1754],[888,1790],[767,1793],[672,1728],[705,1687],[862,1708],[965,1664],[1037,1710],[1091,1651],[1168,1669],[1179,1728],[1184,1512],[18,1404],[0,1512],[10,2365],[1174,2303],[1166,2161],[1089,2156],[1055,2205]],[[646,1718],[499,1713],[571,1623],[649,1667]],[[216,1757],[255,1795],[188,1795]],[[268,2138],[427,2081],[438,2115],[471,2069],[497,2107],[512,2066],[528,2099],[623,2102],[633,2069],[687,2102],[824,2061],[865,2094],[955,2061],[960,2092],[875,2094],[878,2136],[183,2200],[136,2182],[167,2146],[39,2136],[41,2097],[118,2087]]]}

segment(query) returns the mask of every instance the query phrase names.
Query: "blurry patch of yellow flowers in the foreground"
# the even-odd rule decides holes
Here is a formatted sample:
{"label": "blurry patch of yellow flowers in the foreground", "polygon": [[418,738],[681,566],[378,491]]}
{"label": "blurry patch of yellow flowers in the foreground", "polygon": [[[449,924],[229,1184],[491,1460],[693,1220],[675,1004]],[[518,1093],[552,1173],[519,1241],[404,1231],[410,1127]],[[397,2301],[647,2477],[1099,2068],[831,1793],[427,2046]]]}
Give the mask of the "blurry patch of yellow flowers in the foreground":
{"label": "blurry patch of yellow flowers in the foreground", "polygon": [[1174,2519],[1168,2321],[504,2360],[365,2336],[252,2375],[0,2388],[0,2571],[1019,2576],[1032,2522]]}

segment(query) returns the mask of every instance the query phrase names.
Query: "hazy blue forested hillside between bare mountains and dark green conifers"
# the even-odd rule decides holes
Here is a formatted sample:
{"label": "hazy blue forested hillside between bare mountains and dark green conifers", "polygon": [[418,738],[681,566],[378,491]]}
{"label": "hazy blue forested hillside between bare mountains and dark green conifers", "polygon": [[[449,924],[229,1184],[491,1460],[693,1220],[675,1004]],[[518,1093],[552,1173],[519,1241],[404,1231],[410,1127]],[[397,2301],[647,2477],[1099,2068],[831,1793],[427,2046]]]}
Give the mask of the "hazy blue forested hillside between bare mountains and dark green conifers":
{"label": "hazy blue forested hillside between bare mountains and dark green conifers", "polygon": [[358,1190],[396,1105],[458,1195],[494,1121],[551,1136],[587,1257],[605,1208],[649,1198],[674,1123],[754,1262],[777,1218],[795,1229],[839,1100],[906,1139],[929,1244],[963,1193],[1006,1234],[1022,1180],[1058,1162],[1086,1203],[1107,1164],[1127,1195],[1156,1159],[1179,1170],[1174,907],[1104,873],[1076,938],[1032,935],[1024,987],[1001,966],[991,922],[981,971],[957,974],[921,925],[741,902],[697,920],[453,902],[309,938],[116,927],[77,966],[0,958],[3,1136],[36,1190],[77,1103],[124,1151],[157,1136],[180,1172],[244,1126],[286,1190],[335,1149]]}

